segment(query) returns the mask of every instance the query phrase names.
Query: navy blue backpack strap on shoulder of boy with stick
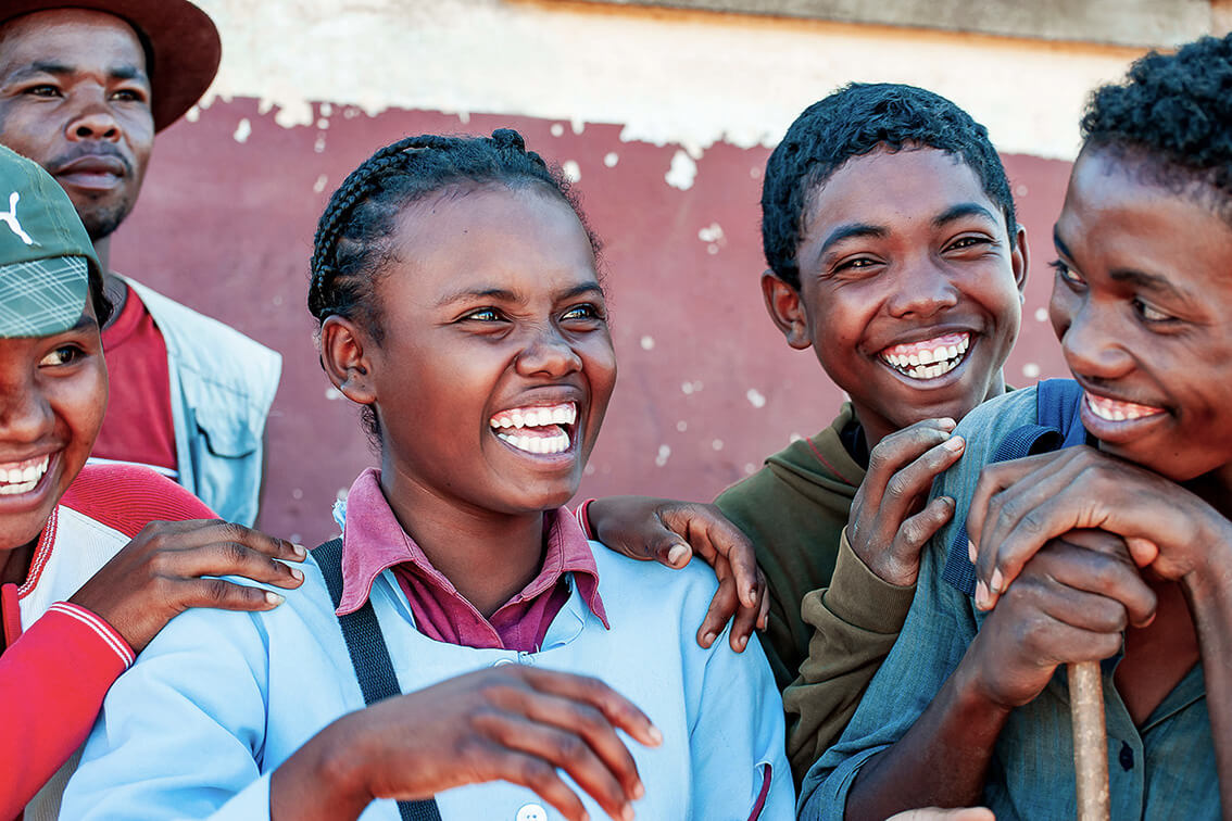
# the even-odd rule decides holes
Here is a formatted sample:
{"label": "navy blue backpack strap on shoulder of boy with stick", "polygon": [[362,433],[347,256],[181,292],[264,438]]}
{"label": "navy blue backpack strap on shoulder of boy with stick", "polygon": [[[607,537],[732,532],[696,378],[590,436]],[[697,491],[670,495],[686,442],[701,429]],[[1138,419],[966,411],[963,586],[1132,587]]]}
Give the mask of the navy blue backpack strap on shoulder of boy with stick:
{"label": "navy blue backpack strap on shoulder of boy with stick", "polygon": [[[1035,388],[1035,422],[1015,427],[1000,441],[992,462],[1009,462],[1082,444],[1087,430],[1078,419],[1082,388],[1072,379],[1045,379]],[[958,524],[941,579],[966,596],[976,595],[976,566],[967,555],[967,523]]]}

